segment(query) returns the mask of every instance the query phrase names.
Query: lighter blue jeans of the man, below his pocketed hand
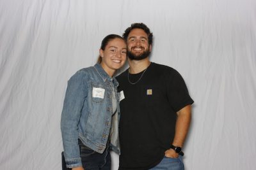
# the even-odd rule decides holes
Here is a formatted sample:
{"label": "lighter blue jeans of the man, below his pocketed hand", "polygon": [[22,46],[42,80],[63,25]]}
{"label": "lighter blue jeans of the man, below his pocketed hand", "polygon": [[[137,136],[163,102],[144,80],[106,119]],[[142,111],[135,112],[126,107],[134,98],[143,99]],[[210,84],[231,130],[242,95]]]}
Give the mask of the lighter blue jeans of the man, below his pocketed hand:
{"label": "lighter blue jeans of the man, below his pocketed hand", "polygon": [[168,158],[165,157],[161,160],[161,162],[153,167],[150,170],[184,170],[184,164],[182,161],[182,156],[179,155],[178,158]]}

